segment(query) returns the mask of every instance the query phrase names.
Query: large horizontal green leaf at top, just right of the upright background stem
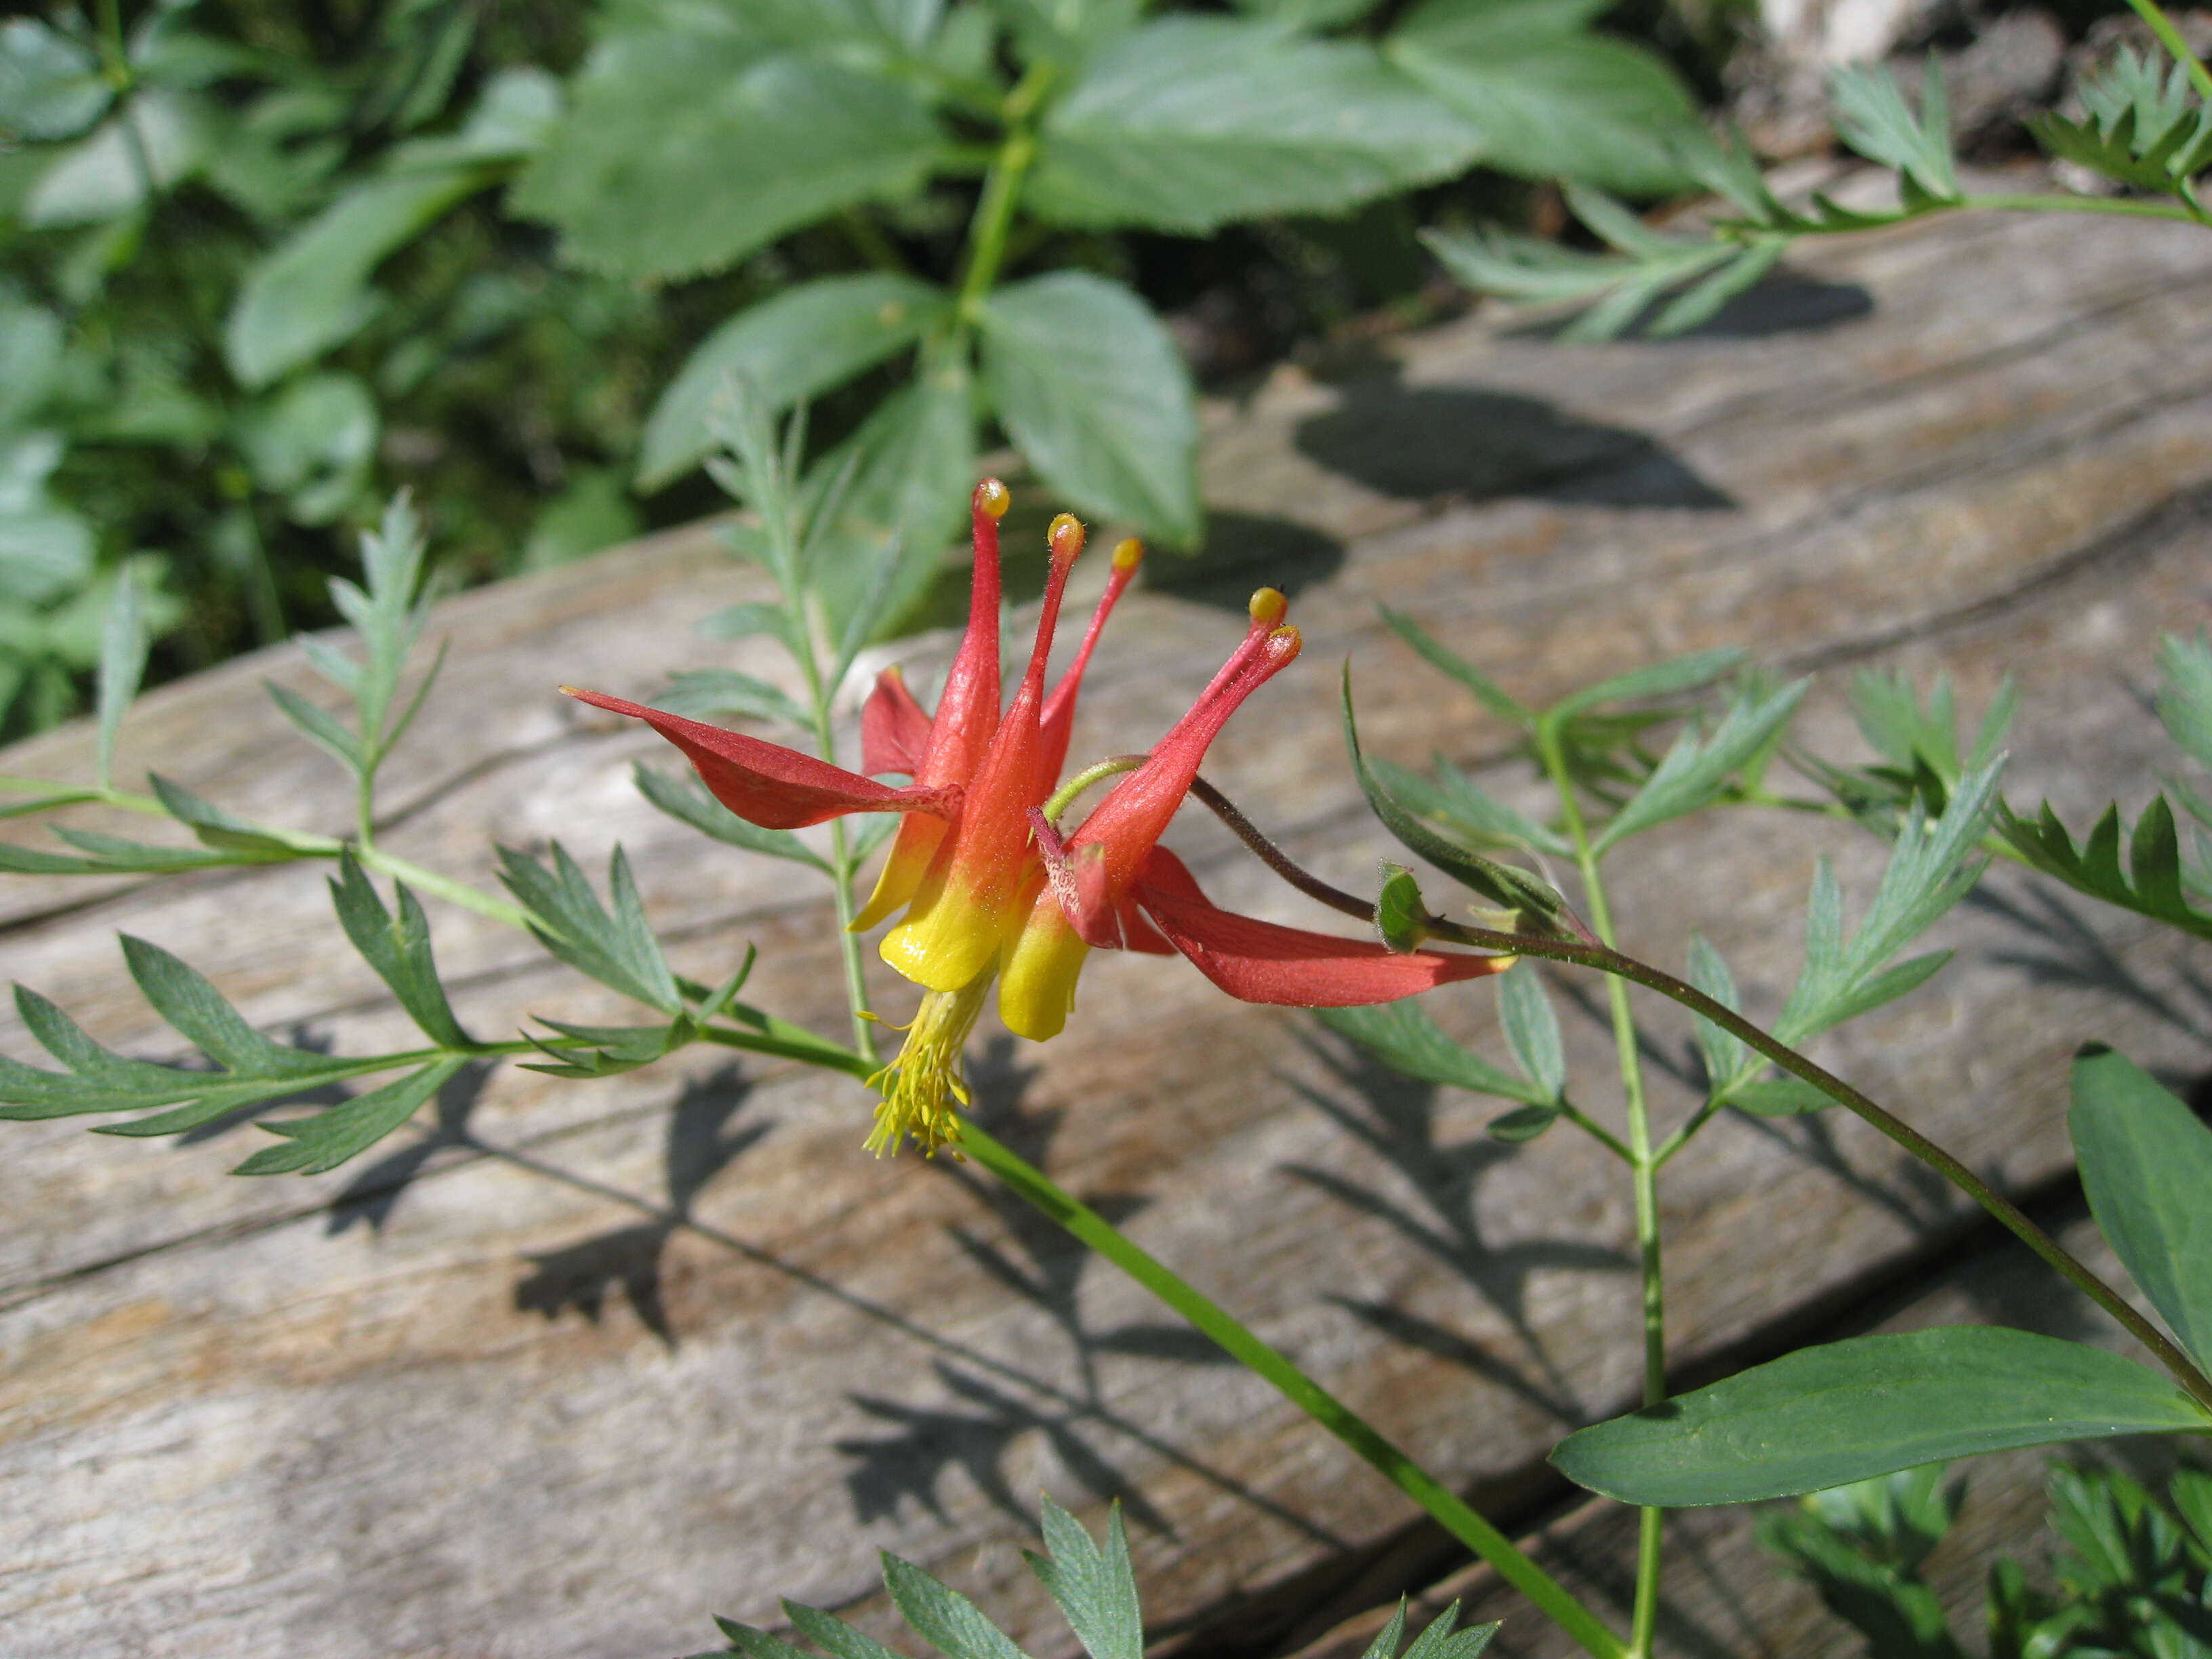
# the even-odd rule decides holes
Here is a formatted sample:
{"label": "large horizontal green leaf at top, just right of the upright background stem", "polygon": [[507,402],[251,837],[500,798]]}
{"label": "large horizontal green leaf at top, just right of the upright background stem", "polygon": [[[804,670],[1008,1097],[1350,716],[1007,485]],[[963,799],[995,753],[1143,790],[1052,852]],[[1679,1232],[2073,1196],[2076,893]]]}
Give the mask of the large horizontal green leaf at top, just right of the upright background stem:
{"label": "large horizontal green leaf at top, just right of the upright background stem", "polygon": [[1464,122],[1365,42],[1159,18],[1093,55],[1053,104],[1029,204],[1060,223],[1203,234],[1343,212],[1475,153]]}

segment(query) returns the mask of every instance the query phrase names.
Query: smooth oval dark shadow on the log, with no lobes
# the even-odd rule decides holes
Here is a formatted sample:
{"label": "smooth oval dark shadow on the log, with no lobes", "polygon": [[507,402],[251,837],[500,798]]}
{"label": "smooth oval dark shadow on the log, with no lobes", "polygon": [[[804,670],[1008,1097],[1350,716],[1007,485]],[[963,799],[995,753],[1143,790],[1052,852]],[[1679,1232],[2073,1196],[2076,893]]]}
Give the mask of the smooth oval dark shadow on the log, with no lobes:
{"label": "smooth oval dark shadow on the log, with no lobes", "polygon": [[1298,451],[1380,495],[1593,507],[1730,509],[1736,502],[1630,427],[1571,416],[1520,392],[1409,387],[1396,363],[1338,385],[1338,405],[1298,422]]}

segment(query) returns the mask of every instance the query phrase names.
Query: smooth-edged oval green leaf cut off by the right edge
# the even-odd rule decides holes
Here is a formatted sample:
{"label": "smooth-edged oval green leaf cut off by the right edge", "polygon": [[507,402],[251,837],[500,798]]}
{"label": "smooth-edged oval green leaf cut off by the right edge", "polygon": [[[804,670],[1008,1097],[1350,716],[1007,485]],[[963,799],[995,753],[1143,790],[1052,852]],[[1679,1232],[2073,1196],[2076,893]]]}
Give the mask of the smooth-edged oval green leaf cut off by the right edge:
{"label": "smooth-edged oval green leaf cut off by the right edge", "polygon": [[2212,1128],[2110,1051],[2073,1064],[2075,1157],[2097,1225],[2199,1365],[2212,1365]]}

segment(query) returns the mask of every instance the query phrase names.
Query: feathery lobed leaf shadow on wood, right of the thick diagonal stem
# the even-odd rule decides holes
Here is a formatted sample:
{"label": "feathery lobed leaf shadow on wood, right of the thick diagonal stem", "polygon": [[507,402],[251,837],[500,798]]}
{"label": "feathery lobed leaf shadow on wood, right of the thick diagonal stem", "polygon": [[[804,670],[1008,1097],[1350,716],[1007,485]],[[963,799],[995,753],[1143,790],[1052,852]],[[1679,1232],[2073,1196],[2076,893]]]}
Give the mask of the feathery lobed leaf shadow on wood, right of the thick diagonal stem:
{"label": "feathery lobed leaf shadow on wood, right of the thick diagonal stem", "polygon": [[[1491,1245],[1482,1237],[1478,1188],[1489,1170],[1515,1159],[1522,1148],[1489,1137],[1444,1144],[1436,1128],[1433,1084],[1400,1077],[1358,1048],[1329,1048],[1305,1035],[1301,1044],[1327,1068],[1336,1088],[1314,1088],[1303,1082],[1290,1086],[1389,1164],[1418,1194],[1418,1206],[1349,1181],[1336,1170],[1310,1164],[1283,1168],[1345,1208],[1383,1221],[1449,1267],[1504,1318],[1526,1354],[1526,1365],[1515,1365],[1473,1338],[1383,1303],[1349,1296],[1332,1301],[1383,1336],[1462,1365],[1557,1422],[1571,1427],[1588,1422],[1588,1411],[1528,1318],[1528,1279],[1559,1270],[1630,1272],[1635,1261],[1621,1250],[1584,1239],[1520,1239]],[[1358,1106],[1340,1095],[1354,1097]]]}

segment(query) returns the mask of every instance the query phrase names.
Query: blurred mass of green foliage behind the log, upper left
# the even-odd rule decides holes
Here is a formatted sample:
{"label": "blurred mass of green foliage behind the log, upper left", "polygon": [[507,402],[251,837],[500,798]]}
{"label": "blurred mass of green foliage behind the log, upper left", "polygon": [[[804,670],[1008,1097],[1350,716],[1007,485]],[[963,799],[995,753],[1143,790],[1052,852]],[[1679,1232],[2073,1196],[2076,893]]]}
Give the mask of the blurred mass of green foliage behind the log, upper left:
{"label": "blurred mass of green foliage behind the log, upper left", "polygon": [[[1597,33],[1601,4],[95,0],[11,18],[0,737],[82,703],[124,568],[175,675],[334,622],[325,577],[394,487],[462,582],[721,507],[697,462],[728,367],[812,398],[812,451],[856,458],[856,544],[900,531],[916,591],[971,458],[1020,422],[1057,495],[1192,544],[1183,363],[1234,376],[1376,307],[1418,312],[1416,226],[1524,217],[1517,179],[1672,184],[1644,126],[1690,115],[1679,71],[1710,91],[1717,58],[1655,4],[1621,18],[1648,44]],[[1486,115],[1502,71],[1548,82],[1573,119]],[[993,330],[951,294],[978,274],[978,199],[1015,133],[1042,142],[978,292],[1099,281],[1029,288]],[[1068,332],[1093,349],[1057,376]],[[721,349],[692,363],[703,341]],[[1077,385],[1099,347],[1166,385]],[[1130,422],[1086,425],[1084,396],[1135,398]]]}

